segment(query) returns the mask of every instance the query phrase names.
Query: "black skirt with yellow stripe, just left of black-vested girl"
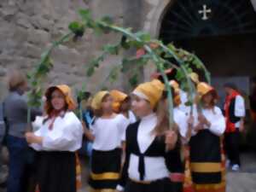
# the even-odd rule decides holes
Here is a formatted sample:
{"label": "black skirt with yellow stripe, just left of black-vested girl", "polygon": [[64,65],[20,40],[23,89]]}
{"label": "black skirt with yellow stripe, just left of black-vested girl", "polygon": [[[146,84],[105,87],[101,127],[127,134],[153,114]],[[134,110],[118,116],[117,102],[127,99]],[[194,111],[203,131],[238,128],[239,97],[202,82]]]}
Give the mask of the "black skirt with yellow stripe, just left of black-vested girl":
{"label": "black skirt with yellow stripe, just left of black-vested girl", "polygon": [[89,185],[91,189],[116,189],[121,170],[121,149],[93,150]]}

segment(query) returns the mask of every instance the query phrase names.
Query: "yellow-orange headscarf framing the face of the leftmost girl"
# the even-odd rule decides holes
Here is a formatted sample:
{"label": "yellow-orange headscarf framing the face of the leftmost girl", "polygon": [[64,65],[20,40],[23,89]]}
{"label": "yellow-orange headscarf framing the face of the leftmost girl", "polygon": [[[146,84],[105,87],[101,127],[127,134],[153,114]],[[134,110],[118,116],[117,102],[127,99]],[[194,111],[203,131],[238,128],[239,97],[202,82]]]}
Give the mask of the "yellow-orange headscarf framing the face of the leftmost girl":
{"label": "yellow-orange headscarf framing the face of the leftmost girl", "polygon": [[[61,93],[65,96],[65,102],[67,102],[68,109],[74,110],[76,108],[76,103],[73,101],[71,89],[69,86],[67,86],[67,84],[59,84],[49,87],[49,89],[45,92],[47,100],[50,100],[51,94],[55,89],[60,90]],[[46,104],[45,108],[47,109],[49,106]]]}

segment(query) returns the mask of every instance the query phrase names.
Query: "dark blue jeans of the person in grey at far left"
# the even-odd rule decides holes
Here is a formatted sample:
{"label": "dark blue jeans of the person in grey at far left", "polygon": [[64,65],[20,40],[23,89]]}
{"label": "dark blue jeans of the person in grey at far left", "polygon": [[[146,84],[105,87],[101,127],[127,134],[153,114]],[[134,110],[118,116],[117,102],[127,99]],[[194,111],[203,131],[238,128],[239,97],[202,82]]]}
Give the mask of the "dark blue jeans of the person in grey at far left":
{"label": "dark blue jeans of the person in grey at far left", "polygon": [[24,191],[24,186],[22,185],[24,185],[26,165],[32,163],[28,144],[25,138],[8,136],[7,148],[9,149],[7,192],[22,192]]}

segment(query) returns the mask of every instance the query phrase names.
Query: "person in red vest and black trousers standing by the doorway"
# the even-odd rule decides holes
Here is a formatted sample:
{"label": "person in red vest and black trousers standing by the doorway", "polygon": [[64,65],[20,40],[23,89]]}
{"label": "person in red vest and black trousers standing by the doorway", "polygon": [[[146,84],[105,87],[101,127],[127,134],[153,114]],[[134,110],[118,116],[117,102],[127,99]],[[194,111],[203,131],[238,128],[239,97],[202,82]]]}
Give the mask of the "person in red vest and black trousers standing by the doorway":
{"label": "person in red vest and black trousers standing by the doorway", "polygon": [[227,166],[232,171],[239,171],[241,162],[239,155],[240,132],[244,130],[245,101],[236,90],[235,84],[224,84],[226,99],[224,114],[226,118],[226,130],[224,134],[225,151],[227,154]]}

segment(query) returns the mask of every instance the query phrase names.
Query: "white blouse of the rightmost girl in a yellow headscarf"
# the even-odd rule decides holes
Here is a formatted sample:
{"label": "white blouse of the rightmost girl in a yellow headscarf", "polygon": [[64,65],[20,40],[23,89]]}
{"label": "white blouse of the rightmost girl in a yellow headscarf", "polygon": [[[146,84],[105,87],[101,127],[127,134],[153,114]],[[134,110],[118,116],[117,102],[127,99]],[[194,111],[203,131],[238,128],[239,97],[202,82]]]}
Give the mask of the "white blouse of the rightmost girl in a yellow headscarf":
{"label": "white blouse of the rightmost girl in a yellow headscarf", "polygon": [[[214,135],[221,136],[225,131],[225,119],[222,111],[218,107],[214,107],[213,109],[202,109],[201,113],[205,116],[205,118],[211,123],[210,127],[205,127],[209,131],[211,131]],[[194,112],[194,125],[198,125],[198,113],[197,110]],[[195,135],[195,131],[192,131],[192,135]]]}

